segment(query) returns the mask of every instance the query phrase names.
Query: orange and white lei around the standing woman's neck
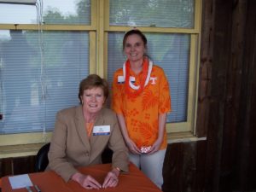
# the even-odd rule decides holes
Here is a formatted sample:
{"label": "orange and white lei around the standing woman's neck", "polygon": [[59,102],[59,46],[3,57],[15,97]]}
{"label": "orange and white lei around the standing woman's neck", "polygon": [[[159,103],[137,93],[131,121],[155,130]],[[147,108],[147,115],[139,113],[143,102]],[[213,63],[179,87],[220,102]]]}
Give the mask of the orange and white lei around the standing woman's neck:
{"label": "orange and white lei around the standing woman's neck", "polygon": [[[124,73],[124,79],[125,79],[125,92],[128,94],[128,96],[138,96],[144,89],[144,87],[148,84],[150,79],[150,74],[153,67],[153,62],[149,61],[148,59],[143,60],[143,75],[142,79],[140,79],[140,84],[135,85],[132,83],[131,77],[130,77],[130,61],[125,61],[123,65],[123,73]],[[126,75],[127,74],[127,75]],[[131,89],[135,91],[131,91]]]}

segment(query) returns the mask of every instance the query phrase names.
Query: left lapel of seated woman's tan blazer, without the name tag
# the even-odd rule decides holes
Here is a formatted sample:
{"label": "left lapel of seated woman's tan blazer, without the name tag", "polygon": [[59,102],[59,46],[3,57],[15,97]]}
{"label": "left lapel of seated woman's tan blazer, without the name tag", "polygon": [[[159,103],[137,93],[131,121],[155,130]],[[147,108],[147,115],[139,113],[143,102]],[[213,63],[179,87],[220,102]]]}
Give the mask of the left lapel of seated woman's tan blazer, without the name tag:
{"label": "left lapel of seated woman's tan blazer, without the name tag", "polygon": [[76,108],[76,129],[79,132],[79,137],[84,143],[84,147],[88,148],[90,151],[90,142],[89,137],[87,136],[87,131],[85,130],[85,122],[84,122],[84,115],[83,115],[83,109],[82,106],[79,106]]}

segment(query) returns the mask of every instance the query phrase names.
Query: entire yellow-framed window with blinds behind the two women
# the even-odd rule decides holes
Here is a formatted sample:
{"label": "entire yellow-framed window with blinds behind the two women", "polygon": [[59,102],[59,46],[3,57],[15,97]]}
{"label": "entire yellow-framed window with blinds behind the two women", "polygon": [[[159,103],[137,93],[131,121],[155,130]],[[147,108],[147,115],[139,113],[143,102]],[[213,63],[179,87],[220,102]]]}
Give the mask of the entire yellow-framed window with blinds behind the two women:
{"label": "entire yellow-framed window with blinds behind the two women", "polygon": [[55,113],[79,103],[89,73],[111,84],[125,61],[123,36],[135,26],[169,79],[167,131],[193,132],[201,0],[0,1],[0,151],[48,142]]}

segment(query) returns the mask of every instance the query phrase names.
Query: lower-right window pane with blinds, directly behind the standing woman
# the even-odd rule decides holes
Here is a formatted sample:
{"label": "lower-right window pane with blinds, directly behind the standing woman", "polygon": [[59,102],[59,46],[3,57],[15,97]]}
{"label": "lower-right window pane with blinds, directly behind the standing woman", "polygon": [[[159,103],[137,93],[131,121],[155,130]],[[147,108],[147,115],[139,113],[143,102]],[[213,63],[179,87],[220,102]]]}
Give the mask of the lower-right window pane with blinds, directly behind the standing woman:
{"label": "lower-right window pane with blinds, directly behind the standing woman", "polygon": [[[167,122],[186,121],[189,83],[189,35],[145,34],[148,38],[148,55],[156,65],[164,69],[169,80],[172,113],[168,114]],[[108,35],[108,82],[113,81],[114,71],[122,67],[125,61],[122,52],[123,36],[124,33],[121,32],[111,32]]]}

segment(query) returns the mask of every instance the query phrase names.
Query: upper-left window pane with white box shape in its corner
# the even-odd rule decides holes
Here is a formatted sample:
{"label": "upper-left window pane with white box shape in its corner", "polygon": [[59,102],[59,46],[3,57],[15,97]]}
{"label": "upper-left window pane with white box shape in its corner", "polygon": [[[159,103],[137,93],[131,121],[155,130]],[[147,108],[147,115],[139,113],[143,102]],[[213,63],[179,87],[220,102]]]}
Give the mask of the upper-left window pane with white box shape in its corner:
{"label": "upper-left window pane with white box shape in its corner", "polygon": [[[90,25],[90,0],[41,0],[35,5],[0,3],[0,23]],[[43,15],[41,15],[43,10]]]}

